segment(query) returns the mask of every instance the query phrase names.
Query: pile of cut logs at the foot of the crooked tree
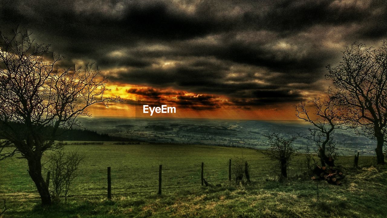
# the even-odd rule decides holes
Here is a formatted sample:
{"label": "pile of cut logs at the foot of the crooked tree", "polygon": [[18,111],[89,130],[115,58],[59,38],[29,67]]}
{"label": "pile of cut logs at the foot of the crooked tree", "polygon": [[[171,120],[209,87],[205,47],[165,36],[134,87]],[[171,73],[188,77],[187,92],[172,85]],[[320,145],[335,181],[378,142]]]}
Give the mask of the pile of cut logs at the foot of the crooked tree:
{"label": "pile of cut logs at the foot of the crooked tree", "polygon": [[316,166],[313,170],[315,176],[312,176],[312,180],[326,180],[329,184],[332,185],[341,185],[341,181],[345,178],[345,175],[341,170],[334,167],[320,167]]}

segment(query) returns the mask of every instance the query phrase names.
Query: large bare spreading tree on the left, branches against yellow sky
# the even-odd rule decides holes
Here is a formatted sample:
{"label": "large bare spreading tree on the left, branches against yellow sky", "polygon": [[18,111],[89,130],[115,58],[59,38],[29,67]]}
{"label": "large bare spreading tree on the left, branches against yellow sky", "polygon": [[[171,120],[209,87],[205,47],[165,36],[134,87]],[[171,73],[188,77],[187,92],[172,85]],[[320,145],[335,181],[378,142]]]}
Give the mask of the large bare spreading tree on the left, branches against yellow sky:
{"label": "large bare spreading tree on the left, branches against yellow sky", "polygon": [[51,204],[42,176],[41,158],[57,149],[58,129],[78,125],[78,116],[90,116],[87,107],[118,96],[105,97],[107,78],[100,70],[59,69],[50,46],[34,43],[27,33],[15,31],[11,38],[1,34],[0,44],[0,158],[20,153],[27,159],[28,172],[43,205]]}

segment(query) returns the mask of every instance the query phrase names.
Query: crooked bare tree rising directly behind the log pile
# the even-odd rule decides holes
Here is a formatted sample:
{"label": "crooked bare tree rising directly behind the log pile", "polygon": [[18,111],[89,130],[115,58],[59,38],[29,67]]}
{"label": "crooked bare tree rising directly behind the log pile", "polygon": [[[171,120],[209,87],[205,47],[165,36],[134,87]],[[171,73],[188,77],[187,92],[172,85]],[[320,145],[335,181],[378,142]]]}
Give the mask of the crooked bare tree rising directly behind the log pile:
{"label": "crooked bare tree rising directly behind the log pile", "polygon": [[[328,93],[330,93],[330,89]],[[308,108],[312,107],[312,111]],[[346,129],[343,126],[342,116],[344,110],[335,104],[332,96],[326,99],[314,98],[306,103],[301,102],[296,107],[296,116],[313,125],[309,128],[310,134],[305,138],[311,140],[317,146],[321,165],[334,166],[336,156],[336,144],[333,142],[333,133],[336,129]]]}

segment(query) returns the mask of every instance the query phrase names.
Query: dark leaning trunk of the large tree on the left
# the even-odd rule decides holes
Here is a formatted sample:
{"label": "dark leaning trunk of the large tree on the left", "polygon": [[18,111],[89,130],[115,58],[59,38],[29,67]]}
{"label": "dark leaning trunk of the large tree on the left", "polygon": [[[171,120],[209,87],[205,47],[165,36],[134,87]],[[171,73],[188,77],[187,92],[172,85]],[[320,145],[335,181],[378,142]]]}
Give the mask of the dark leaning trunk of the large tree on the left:
{"label": "dark leaning trunk of the large tree on the left", "polygon": [[43,206],[51,205],[51,196],[48,190],[48,185],[42,176],[42,164],[41,164],[41,156],[35,155],[33,157],[28,157],[28,172],[31,176],[31,179],[34,181],[36,188],[38,189],[40,199],[42,201]]}

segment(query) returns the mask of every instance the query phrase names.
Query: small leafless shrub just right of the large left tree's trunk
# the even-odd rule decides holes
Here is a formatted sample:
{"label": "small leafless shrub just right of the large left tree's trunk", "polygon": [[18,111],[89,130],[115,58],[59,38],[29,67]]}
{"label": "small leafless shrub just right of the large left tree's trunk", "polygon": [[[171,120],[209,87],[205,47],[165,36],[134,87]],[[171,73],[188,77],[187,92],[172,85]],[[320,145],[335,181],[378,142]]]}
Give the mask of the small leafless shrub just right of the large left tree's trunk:
{"label": "small leafless shrub just right of the large left tree's trunk", "polygon": [[46,170],[51,172],[52,196],[55,200],[59,201],[63,194],[67,202],[70,185],[79,175],[79,164],[84,157],[77,151],[65,152],[63,148],[50,154]]}

